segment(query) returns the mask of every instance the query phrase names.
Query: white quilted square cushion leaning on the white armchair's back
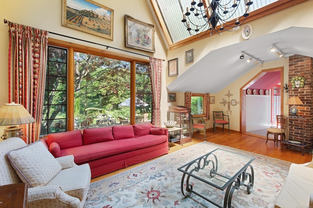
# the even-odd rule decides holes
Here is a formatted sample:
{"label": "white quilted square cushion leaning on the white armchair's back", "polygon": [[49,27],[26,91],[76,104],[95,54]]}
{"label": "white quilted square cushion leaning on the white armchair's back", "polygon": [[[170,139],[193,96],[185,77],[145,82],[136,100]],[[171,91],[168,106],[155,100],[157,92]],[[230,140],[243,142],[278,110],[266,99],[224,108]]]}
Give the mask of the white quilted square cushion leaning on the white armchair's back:
{"label": "white quilted square cushion leaning on the white armchair's back", "polygon": [[62,169],[41,141],[11,150],[7,157],[21,180],[30,188],[45,186]]}

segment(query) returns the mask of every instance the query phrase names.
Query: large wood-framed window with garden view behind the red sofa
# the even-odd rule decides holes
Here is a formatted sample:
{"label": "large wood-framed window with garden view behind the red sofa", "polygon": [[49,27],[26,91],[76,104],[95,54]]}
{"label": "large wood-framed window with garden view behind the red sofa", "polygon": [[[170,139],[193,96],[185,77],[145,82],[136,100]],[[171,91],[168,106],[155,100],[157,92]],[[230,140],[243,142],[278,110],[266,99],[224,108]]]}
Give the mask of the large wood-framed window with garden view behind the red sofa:
{"label": "large wood-framed window with garden view behind the red sofa", "polygon": [[151,122],[148,62],[48,46],[41,134]]}

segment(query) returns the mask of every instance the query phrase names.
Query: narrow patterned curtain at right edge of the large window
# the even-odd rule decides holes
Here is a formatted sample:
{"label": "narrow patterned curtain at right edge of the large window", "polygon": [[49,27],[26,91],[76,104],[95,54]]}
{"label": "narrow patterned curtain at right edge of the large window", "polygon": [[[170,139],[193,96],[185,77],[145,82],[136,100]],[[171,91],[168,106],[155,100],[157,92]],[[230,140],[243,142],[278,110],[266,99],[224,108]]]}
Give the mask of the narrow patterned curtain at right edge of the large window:
{"label": "narrow patterned curtain at right edge of the large window", "polygon": [[161,126],[161,87],[162,87],[162,63],[163,60],[150,57],[150,77],[152,89],[152,124]]}

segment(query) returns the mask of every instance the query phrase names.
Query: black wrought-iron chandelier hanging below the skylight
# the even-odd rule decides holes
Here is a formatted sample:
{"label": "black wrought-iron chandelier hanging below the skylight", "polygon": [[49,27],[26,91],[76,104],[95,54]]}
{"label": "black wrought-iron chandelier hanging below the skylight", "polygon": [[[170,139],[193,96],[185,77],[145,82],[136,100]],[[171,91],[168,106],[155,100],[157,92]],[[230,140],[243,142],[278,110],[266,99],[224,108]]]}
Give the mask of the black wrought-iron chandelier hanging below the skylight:
{"label": "black wrought-iron chandelier hanging below the skylight", "polygon": [[[240,16],[237,10],[242,1],[245,2],[245,12]],[[205,34],[207,31],[220,34],[223,30],[235,30],[237,26],[245,22],[249,16],[249,7],[253,3],[251,0],[211,0],[207,6],[205,2],[199,0],[197,4],[195,0],[192,0],[190,9],[187,7],[186,13],[183,13],[181,22],[192,36],[199,35],[203,31]],[[190,16],[191,14],[194,17]],[[220,24],[219,29],[217,28],[218,23]]]}

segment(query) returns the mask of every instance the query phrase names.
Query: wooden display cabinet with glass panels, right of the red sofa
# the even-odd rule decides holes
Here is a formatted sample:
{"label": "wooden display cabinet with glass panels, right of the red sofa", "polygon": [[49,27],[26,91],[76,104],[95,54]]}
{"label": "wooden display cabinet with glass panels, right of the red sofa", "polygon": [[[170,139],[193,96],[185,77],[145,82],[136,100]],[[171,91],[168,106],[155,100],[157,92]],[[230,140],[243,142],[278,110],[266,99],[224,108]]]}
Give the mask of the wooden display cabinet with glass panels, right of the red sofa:
{"label": "wooden display cabinet with glass panels, right of the red sofa", "polygon": [[[191,109],[184,106],[169,106],[168,120],[176,121],[178,131],[169,132],[170,142],[175,142],[177,138],[180,144],[191,141]],[[172,139],[171,139],[172,138]],[[176,140],[176,141],[178,141]]]}

